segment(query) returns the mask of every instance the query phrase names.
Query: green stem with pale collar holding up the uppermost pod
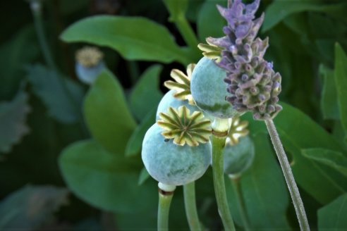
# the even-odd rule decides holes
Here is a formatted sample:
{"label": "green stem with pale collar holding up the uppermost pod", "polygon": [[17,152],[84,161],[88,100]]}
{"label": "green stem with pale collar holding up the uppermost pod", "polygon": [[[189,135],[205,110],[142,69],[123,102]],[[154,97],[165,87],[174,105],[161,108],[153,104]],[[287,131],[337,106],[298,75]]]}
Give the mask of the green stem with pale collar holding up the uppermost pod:
{"label": "green stem with pale collar holding up the uppermost pod", "polygon": [[235,225],[226,199],[224,182],[224,146],[229,131],[229,119],[214,118],[212,123],[212,173],[214,193],[216,194],[219,216],[224,225],[224,230],[233,231]]}

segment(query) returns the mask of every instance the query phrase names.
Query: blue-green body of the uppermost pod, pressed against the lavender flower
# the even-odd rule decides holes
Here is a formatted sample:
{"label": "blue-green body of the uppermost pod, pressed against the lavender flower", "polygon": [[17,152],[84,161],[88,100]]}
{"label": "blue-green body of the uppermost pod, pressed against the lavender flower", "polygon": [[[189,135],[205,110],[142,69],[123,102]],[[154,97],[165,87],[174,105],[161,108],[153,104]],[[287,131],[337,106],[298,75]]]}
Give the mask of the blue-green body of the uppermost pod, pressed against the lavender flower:
{"label": "blue-green body of the uppermost pod, pressed against the lavender flower", "polygon": [[226,72],[209,58],[201,58],[193,70],[190,91],[202,111],[219,118],[231,118],[240,113],[226,101],[229,94],[224,82]]}

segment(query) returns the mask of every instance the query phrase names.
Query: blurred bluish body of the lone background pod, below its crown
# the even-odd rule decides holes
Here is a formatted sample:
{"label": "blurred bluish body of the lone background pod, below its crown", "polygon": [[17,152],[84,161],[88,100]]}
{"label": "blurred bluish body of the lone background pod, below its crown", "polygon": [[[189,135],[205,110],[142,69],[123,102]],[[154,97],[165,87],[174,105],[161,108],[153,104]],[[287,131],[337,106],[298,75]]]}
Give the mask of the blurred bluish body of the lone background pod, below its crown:
{"label": "blurred bluish body of the lone background pod, below its crown", "polygon": [[75,64],[75,72],[78,79],[87,85],[92,85],[92,83],[97,79],[104,69],[105,64],[103,61],[93,67],[85,67],[78,62]]}

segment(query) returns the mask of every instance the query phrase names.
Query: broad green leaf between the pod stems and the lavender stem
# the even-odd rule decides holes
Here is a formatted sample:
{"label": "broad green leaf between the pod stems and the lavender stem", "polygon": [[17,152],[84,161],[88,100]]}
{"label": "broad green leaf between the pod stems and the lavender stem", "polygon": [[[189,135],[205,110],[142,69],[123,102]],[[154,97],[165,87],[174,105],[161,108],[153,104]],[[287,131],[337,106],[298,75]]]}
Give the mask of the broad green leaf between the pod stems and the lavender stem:
{"label": "broad green leaf between the pod stems and the lavender stem", "polygon": [[[289,198],[281,168],[276,161],[269,139],[258,134],[254,136],[253,140],[255,142],[255,160],[239,182],[250,227],[252,230],[267,230],[270,227],[288,230],[286,213]],[[236,223],[242,227],[236,187],[230,182],[231,180],[227,180],[226,185],[228,186],[230,207],[233,208],[231,212]]]}

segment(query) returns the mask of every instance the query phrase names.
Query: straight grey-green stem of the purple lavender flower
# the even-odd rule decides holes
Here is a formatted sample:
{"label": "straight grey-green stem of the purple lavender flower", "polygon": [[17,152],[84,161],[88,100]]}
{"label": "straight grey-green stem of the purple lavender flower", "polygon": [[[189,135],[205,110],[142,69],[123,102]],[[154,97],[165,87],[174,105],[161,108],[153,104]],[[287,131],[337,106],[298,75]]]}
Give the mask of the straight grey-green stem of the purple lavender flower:
{"label": "straight grey-green stem of the purple lavender flower", "polygon": [[279,158],[279,163],[281,164],[282,172],[291,194],[291,199],[296,210],[296,216],[298,217],[300,230],[309,231],[310,226],[308,225],[308,218],[305,213],[303,201],[301,200],[298,186],[296,185],[293,173],[291,172],[291,166],[289,165],[288,158],[281,143],[281,139],[279,139],[279,134],[277,133],[274,121],[272,119],[268,119],[265,120],[265,124],[267,125],[267,130],[269,131],[272,144],[274,144],[276,155]]}

